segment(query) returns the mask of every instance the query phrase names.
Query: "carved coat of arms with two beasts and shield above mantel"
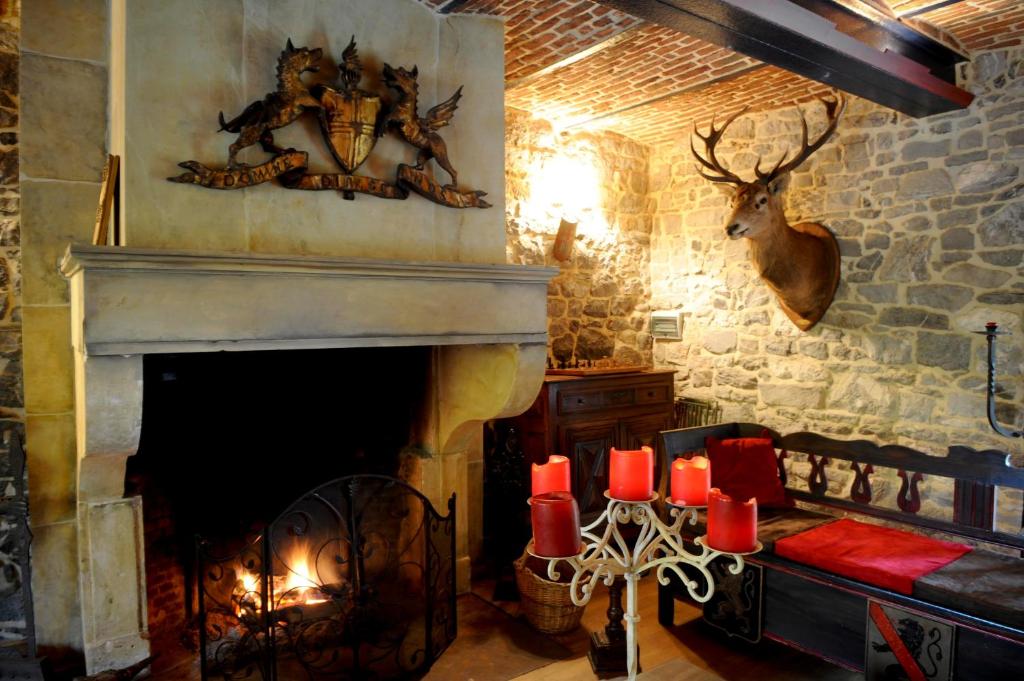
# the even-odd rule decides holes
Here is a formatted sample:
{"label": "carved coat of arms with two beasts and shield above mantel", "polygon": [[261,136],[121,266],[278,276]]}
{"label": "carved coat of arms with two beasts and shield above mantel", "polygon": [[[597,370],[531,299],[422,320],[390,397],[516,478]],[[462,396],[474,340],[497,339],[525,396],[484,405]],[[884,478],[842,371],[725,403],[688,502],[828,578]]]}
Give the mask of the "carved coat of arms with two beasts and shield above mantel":
{"label": "carved coat of arms with two beasts and shield above mantel", "polygon": [[[420,118],[416,67],[407,71],[384,65],[384,82],[397,92],[396,101],[385,107],[380,96],[358,87],[362,63],[354,37],[342,53],[337,84],[307,86],[302,75],[317,72],[322,57],[321,48],[296,48],[289,40],[278,59],[278,90],[251,103],[230,121],[225,121],[223,114],[219,117],[221,130],[239,135],[228,147],[227,165],[210,168],[198,161],[185,161],[178,165],[187,172],[168,179],[216,189],[237,189],[276,178],[289,189],[335,189],[348,200],[354,199],[355,193],[404,199],[412,189],[444,206],[489,207],[483,200],[486,193],[459,188],[447,147],[437,133],[438,128],[452,121],[462,97],[461,87],[446,101],[427,112],[425,118]],[[342,172],[308,173],[308,154],[274,144],[272,131],[306,112],[315,112],[324,141]],[[377,139],[389,130],[396,131],[401,139],[419,150],[416,165],[399,164],[393,182],[355,174]],[[237,160],[240,151],[257,142],[273,155],[269,161],[248,165]],[[450,175],[449,183],[441,184],[426,172],[431,159]]]}

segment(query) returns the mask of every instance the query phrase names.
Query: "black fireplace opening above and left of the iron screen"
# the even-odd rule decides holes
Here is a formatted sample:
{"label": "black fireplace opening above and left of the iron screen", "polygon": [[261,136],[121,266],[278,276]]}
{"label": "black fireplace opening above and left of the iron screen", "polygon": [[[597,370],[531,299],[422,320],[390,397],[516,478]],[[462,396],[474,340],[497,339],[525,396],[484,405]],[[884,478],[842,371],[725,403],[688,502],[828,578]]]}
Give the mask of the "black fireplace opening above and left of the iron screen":
{"label": "black fireplace opening above and left of the iron screen", "polygon": [[196,537],[241,549],[346,475],[400,477],[423,441],[431,348],[153,354],[126,494],[141,496],[155,672],[197,651]]}

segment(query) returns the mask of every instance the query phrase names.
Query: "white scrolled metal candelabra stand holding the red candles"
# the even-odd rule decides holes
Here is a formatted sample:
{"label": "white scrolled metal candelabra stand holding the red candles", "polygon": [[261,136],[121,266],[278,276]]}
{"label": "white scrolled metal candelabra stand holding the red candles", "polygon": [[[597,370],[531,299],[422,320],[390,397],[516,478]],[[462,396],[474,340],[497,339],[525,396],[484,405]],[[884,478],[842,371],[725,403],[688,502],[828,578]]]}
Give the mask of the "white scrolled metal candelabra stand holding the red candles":
{"label": "white scrolled metal candelabra stand holding the red candles", "polygon": [[[559,573],[556,568],[560,561],[565,561],[573,570],[569,583],[569,594],[577,605],[586,605],[594,595],[595,585],[603,580],[605,586],[611,586],[615,578],[622,576],[626,580],[626,669],[630,681],[637,678],[637,582],[649,569],[656,569],[658,583],[669,584],[669,572],[674,572],[686,587],[690,596],[698,603],[707,602],[715,593],[715,579],[708,569],[708,564],[719,556],[729,556],[733,564],[729,571],[739,574],[743,570],[743,556],[761,550],[757,543],[754,551],[746,553],[728,553],[709,547],[707,536],[697,537],[693,544],[697,551],[690,551],[683,544],[680,529],[689,518],[690,524],[696,524],[697,511],[702,506],[677,506],[669,500],[672,524],[666,524],[657,517],[651,504],[657,501],[658,495],[651,495],[647,501],[621,501],[611,498],[607,492],[608,506],[598,518],[583,528],[583,545],[579,555],[553,558],[538,556],[534,553],[534,541],[530,540],[526,551],[538,558],[548,560],[548,578],[556,581]],[[640,526],[640,531],[632,545],[627,542],[618,525],[633,523]],[[604,531],[595,534],[601,525]],[[682,565],[690,565],[699,572],[705,589],[698,590],[700,583],[690,579],[683,571]],[[590,574],[589,580],[584,578]]]}

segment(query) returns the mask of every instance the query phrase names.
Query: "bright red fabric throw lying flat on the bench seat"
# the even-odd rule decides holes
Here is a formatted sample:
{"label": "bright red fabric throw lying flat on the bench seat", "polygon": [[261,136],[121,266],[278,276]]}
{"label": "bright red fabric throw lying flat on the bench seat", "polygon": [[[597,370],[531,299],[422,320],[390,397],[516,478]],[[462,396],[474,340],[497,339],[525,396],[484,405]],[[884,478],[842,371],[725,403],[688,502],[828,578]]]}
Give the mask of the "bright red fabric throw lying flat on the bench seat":
{"label": "bright red fabric throw lying flat on the bench seat", "polygon": [[971,547],[843,518],[775,542],[796,562],[911,595],[913,582],[948,565]]}

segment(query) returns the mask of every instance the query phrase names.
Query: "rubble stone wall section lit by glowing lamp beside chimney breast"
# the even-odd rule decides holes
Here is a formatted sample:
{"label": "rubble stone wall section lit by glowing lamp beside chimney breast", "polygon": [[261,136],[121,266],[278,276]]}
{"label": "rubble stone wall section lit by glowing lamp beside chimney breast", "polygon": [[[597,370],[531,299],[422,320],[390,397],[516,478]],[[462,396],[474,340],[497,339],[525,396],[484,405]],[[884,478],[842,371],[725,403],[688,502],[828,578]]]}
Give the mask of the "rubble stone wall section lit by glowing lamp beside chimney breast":
{"label": "rubble stone wall section lit by glowing lamp beside chimney breast", "polygon": [[[509,110],[508,261],[561,268],[548,289],[553,361],[650,365],[647,148],[614,133],[557,133]],[[552,255],[563,216],[579,219],[571,258]]]}

